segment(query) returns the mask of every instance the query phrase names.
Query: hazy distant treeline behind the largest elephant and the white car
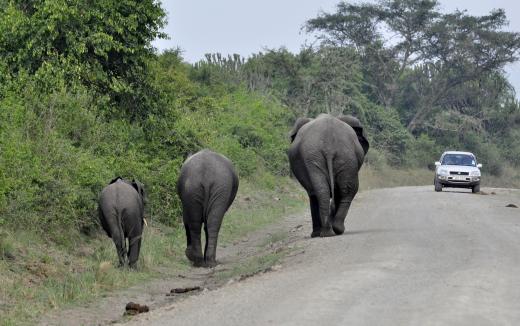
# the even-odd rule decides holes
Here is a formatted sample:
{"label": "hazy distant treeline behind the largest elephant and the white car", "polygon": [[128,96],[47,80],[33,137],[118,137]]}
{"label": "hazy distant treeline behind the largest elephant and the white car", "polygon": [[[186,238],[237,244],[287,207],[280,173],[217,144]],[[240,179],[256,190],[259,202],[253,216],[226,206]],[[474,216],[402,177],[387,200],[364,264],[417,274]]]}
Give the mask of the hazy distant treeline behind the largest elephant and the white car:
{"label": "hazy distant treeline behind the largest elephant and the white car", "polygon": [[376,152],[368,160],[423,167],[447,149],[475,152],[487,173],[520,165],[520,107],[503,68],[520,34],[503,10],[444,14],[435,0],[340,2],[306,22],[318,46],[208,54],[194,66],[206,85],[244,85],[297,116],[356,115]]}

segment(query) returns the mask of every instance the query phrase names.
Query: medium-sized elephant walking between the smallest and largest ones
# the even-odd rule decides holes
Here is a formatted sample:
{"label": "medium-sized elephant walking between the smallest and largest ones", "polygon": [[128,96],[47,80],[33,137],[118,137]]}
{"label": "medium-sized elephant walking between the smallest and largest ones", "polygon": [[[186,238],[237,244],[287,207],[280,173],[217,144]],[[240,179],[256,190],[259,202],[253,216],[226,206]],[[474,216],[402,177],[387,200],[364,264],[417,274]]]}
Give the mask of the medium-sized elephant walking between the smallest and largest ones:
{"label": "medium-sized elephant walking between the smallest and largest ones", "polygon": [[[177,192],[186,228],[186,257],[195,266],[216,265],[218,232],[237,190],[238,176],[231,161],[223,155],[205,149],[190,156],[182,165]],[[204,255],[202,226],[206,234]]]}

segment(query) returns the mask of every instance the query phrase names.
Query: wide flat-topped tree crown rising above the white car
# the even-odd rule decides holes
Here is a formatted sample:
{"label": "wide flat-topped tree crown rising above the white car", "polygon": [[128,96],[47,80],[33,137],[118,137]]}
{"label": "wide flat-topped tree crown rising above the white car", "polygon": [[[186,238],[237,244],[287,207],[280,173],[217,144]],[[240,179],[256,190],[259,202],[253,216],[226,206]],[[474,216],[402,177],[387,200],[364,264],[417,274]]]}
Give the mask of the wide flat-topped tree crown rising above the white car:
{"label": "wide flat-topped tree crown rising above the white car", "polygon": [[438,7],[437,0],[341,2],[335,13],[307,21],[306,29],[319,32],[327,44],[355,47],[367,91],[385,107],[400,105],[410,70],[421,76],[414,82],[421,96],[406,121],[417,132],[450,90],[500,72],[518,59],[520,49],[520,34],[504,31],[503,10],[475,17],[464,11],[443,14]]}

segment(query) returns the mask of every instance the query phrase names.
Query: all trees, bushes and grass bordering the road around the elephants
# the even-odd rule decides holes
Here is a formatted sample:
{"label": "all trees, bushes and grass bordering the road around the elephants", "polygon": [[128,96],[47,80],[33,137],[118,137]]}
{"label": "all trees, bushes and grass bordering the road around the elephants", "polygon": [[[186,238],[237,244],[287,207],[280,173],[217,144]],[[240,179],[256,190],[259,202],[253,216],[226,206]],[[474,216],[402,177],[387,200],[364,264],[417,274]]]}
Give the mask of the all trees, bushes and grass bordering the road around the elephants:
{"label": "all trees, bushes and grass bordering the road around the elephants", "polygon": [[[435,4],[342,3],[306,23],[322,42],[299,53],[189,64],[180,49],[151,46],[166,37],[156,1],[0,0],[2,323],[187,268],[176,181],[202,148],[228,156],[241,180],[223,243],[306,207],[286,158],[299,116],[362,121],[362,189],[431,184],[448,149],[477,155],[483,186],[519,188],[520,106],[502,69],[520,35],[503,31],[501,10]],[[98,194],[116,176],[150,197],[135,273],[106,263],[115,250],[97,222]]]}

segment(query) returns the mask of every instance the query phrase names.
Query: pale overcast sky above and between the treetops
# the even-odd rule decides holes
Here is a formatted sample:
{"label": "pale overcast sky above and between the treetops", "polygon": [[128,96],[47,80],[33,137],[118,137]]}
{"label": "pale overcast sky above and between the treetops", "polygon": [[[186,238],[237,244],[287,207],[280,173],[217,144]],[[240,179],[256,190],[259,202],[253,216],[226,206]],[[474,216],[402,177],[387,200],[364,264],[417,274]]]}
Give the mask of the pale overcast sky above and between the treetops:
{"label": "pale overcast sky above and between the treetops", "polygon": [[[154,43],[159,50],[180,47],[188,62],[205,53],[238,53],[248,57],[264,48],[285,46],[298,52],[314,39],[301,31],[303,23],[320,11],[333,12],[339,0],[163,0],[168,12],[164,32],[170,40]],[[484,15],[503,8],[509,29],[520,31],[519,0],[440,0],[446,12],[465,9]],[[506,67],[511,83],[520,97],[520,64]]]}

